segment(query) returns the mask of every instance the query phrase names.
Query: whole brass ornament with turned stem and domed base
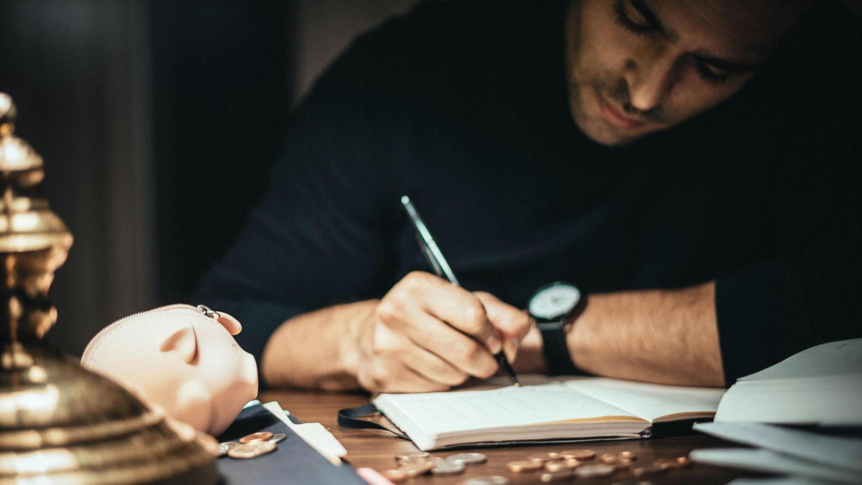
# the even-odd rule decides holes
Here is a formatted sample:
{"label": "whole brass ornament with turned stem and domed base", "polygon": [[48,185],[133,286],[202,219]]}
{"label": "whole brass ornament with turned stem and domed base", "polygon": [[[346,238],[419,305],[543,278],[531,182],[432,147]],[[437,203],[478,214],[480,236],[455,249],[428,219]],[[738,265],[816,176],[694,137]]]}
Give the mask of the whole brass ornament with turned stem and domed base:
{"label": "whole brass ornament with turned stem and domed base", "polygon": [[15,119],[0,93],[0,485],[217,482],[214,438],[42,342],[72,233],[41,196],[42,158]]}

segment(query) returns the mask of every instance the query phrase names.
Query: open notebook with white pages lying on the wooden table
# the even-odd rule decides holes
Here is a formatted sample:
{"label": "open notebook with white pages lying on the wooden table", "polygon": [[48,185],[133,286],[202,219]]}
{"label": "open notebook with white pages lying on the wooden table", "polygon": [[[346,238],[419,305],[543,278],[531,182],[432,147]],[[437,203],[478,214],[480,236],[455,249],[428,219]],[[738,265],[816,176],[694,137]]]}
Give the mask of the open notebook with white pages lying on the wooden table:
{"label": "open notebook with white pages lying on the wooden table", "polygon": [[383,394],[374,404],[420,450],[577,438],[647,438],[653,423],[711,418],[724,389],[583,377],[430,394]]}

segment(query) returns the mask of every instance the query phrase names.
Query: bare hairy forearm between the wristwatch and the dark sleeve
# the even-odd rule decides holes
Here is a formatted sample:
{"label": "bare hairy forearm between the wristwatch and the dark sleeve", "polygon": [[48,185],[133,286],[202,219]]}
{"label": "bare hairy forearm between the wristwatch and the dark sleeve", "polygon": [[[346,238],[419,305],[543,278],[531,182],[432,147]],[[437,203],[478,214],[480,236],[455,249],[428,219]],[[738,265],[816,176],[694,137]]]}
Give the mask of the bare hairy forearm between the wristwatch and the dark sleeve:
{"label": "bare hairy forearm between the wristwatch and the dark sleeve", "polygon": [[712,282],[590,295],[566,339],[578,368],[593,374],[724,385]]}

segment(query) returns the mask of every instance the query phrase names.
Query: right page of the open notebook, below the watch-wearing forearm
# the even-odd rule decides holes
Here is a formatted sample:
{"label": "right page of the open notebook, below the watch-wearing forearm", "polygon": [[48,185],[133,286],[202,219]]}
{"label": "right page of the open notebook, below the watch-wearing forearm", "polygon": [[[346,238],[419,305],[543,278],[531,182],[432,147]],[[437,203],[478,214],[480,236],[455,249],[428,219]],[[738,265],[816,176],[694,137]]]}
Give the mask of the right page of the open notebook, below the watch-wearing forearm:
{"label": "right page of the open notebook, below the watch-wearing forearm", "polygon": [[725,392],[722,388],[687,388],[601,377],[574,379],[564,385],[650,422],[676,413],[715,413]]}

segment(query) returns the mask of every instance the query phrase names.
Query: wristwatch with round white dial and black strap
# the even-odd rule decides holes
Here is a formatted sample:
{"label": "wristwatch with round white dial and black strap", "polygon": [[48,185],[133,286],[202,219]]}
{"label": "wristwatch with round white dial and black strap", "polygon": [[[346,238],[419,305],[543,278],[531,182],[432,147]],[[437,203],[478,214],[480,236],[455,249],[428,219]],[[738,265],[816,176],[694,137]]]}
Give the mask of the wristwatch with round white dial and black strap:
{"label": "wristwatch with round white dial and black strap", "polygon": [[530,297],[528,311],[541,333],[542,351],[551,376],[579,373],[565,343],[565,325],[578,318],[586,303],[586,295],[578,287],[563,282],[547,284]]}

